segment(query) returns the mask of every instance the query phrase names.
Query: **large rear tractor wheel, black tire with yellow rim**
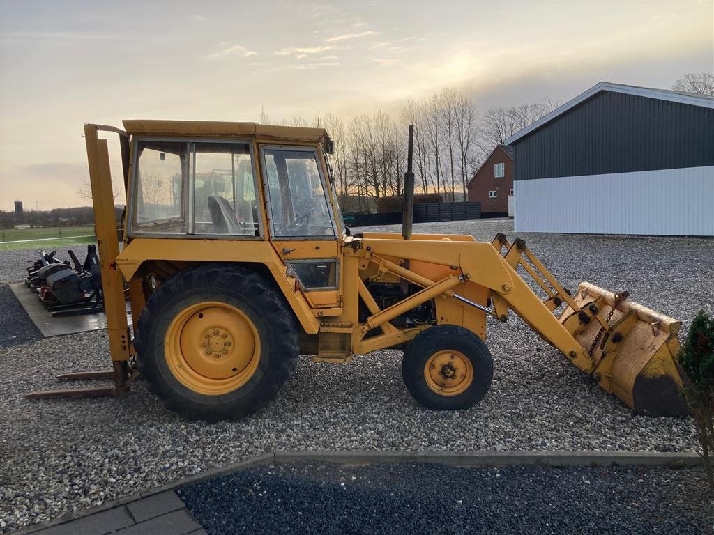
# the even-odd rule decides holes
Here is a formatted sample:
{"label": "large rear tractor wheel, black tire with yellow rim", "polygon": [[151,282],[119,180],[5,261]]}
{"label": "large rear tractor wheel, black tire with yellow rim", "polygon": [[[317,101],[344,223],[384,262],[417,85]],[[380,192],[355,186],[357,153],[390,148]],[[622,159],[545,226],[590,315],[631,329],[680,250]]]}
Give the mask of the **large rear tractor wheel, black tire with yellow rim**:
{"label": "large rear tractor wheel, black tire with yellow rim", "polygon": [[134,345],[149,389],[187,419],[238,419],[262,409],[298,358],[283,296],[243,267],[207,264],[156,288]]}

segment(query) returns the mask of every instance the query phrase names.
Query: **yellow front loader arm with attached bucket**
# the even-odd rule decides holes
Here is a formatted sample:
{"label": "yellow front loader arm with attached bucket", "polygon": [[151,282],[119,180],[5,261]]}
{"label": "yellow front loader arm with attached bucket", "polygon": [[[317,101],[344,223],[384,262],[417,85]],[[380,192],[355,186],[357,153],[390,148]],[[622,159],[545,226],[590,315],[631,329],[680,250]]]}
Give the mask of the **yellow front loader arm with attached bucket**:
{"label": "yellow front loader arm with attached bucket", "polygon": [[[626,300],[626,292],[608,292],[587,282],[580,284],[576,295],[570,295],[523,240],[509,243],[501,234],[493,243],[441,237],[407,241],[377,236],[348,245],[353,254],[380,263],[383,269],[425,288],[406,298],[401,309],[421,302],[420,294],[456,298],[483,307],[456,295],[450,290],[453,283],[420,277],[383,257],[461,270],[462,280],[490,290],[491,315],[506,322],[508,308],[516,312],[543,340],[636,412],[653,416],[687,413],[678,394],[682,379],[675,362],[680,322]],[[518,267],[523,267],[540,286],[545,299],[538,297],[518,274]],[[565,310],[558,313],[561,306]],[[380,314],[383,312],[377,316]],[[368,320],[368,327],[376,325],[372,318]]]}

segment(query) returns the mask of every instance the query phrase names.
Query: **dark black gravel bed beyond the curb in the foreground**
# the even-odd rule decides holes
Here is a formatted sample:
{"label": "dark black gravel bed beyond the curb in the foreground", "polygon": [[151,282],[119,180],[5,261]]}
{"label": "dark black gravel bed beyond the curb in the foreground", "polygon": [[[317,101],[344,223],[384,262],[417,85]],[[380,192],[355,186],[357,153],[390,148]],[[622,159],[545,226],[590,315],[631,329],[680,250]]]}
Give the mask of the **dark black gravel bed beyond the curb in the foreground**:
{"label": "dark black gravel bed beyond the curb in the foreground", "polygon": [[256,467],[179,491],[211,535],[714,533],[700,469]]}

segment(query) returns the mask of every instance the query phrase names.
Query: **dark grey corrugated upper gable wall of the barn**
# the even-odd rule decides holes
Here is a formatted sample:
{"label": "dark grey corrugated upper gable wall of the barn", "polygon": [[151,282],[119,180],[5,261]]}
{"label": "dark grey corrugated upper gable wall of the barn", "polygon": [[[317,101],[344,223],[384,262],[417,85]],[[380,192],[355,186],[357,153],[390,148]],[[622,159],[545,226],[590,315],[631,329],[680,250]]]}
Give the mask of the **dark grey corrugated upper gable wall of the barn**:
{"label": "dark grey corrugated upper gable wall of the barn", "polygon": [[603,91],[513,146],[516,180],[714,165],[714,109]]}

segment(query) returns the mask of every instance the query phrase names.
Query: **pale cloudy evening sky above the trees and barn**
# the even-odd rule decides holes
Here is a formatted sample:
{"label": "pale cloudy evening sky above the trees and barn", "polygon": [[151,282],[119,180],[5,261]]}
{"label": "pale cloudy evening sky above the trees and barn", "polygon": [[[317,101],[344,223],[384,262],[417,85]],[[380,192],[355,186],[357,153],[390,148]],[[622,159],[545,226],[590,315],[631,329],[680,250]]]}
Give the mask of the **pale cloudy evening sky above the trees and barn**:
{"label": "pale cloudy evening sky above the trees and barn", "polygon": [[84,123],[349,118],[446,86],[483,111],[704,71],[714,0],[0,0],[0,209],[87,204]]}

